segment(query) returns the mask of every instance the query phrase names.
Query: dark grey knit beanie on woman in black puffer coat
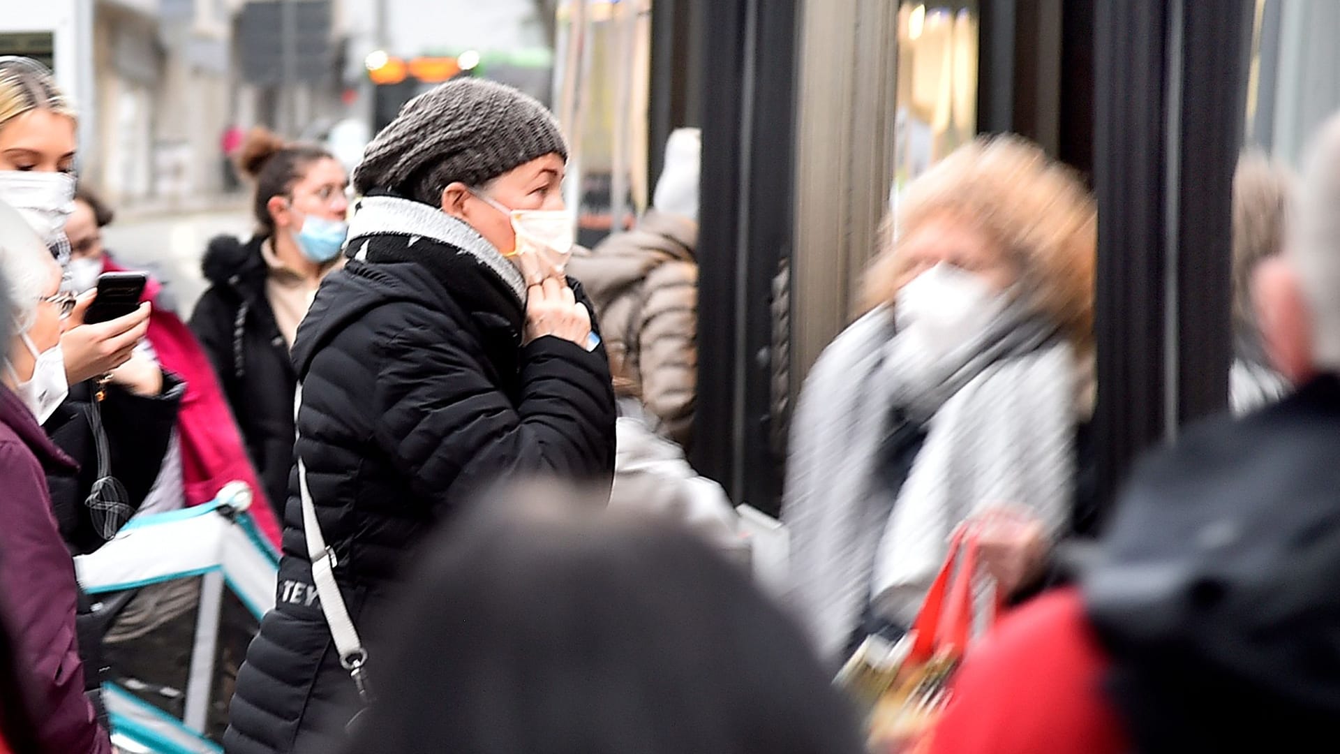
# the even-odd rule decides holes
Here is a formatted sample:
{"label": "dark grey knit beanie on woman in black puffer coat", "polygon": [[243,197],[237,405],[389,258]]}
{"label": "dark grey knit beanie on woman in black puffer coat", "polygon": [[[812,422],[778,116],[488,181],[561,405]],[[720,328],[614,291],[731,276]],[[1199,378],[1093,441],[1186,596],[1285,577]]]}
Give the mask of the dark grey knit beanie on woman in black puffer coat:
{"label": "dark grey knit beanie on woman in black puffer coat", "polygon": [[437,205],[449,184],[478,186],[536,157],[568,158],[559,122],[533,97],[485,79],[453,79],[401,107],[363,152],[354,188]]}

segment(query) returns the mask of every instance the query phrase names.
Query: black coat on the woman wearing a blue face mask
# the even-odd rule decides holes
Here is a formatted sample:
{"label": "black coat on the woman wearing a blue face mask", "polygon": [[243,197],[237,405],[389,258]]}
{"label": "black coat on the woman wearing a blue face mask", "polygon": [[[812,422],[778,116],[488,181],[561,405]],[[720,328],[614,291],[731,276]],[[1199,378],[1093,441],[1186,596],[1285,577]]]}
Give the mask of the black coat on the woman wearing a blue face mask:
{"label": "black coat on the woman wearing a blue face mask", "polygon": [[213,362],[265,498],[275,517],[283,518],[297,374],[265,297],[264,240],[256,236],[243,244],[218,236],[209,241],[202,268],[210,288],[196,303],[190,329]]}

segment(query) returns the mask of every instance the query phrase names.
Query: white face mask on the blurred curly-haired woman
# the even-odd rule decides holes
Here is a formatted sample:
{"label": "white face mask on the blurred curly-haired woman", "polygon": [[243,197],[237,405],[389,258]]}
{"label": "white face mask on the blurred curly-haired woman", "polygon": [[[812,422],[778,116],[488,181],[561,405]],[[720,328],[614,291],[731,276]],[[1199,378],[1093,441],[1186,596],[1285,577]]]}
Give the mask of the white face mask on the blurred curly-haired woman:
{"label": "white face mask on the blurred curly-haired woman", "polygon": [[894,322],[910,353],[938,365],[982,337],[1005,310],[1006,299],[980,275],[941,263],[898,291]]}

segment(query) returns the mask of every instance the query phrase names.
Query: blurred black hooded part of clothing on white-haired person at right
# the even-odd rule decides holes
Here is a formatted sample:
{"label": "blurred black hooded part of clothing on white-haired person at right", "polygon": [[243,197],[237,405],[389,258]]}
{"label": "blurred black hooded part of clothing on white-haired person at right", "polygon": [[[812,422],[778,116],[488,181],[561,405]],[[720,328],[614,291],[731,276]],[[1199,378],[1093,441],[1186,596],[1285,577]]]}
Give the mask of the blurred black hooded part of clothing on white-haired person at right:
{"label": "blurred black hooded part of clothing on white-haired person at right", "polygon": [[1331,750],[1337,573],[1340,376],[1143,460],[1081,581],[1132,750]]}

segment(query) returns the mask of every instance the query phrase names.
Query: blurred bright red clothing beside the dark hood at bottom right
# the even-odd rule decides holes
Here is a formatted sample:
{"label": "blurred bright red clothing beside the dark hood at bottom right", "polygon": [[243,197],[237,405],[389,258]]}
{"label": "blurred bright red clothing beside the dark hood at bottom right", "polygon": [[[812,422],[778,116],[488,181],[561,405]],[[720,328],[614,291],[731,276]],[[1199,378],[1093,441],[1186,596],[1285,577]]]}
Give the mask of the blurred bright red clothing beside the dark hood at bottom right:
{"label": "blurred bright red clothing beside the dark hood at bottom right", "polygon": [[931,734],[933,754],[1124,754],[1103,692],[1110,660],[1075,589],[1010,613],[974,647]]}

